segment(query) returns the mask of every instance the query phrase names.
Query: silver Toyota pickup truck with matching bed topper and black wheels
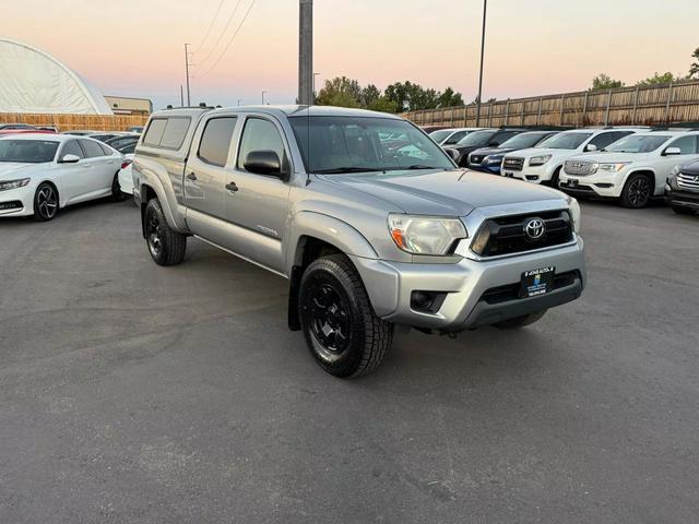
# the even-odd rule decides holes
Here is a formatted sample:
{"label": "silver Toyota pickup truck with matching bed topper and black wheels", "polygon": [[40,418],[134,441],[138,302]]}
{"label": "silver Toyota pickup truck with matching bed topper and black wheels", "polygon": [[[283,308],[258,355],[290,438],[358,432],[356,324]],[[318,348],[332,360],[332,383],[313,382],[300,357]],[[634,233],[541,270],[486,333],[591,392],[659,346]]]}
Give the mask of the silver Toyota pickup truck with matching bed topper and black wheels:
{"label": "silver Toyota pickup truck with matching bed topper and black wheels", "polygon": [[157,264],[182,262],[194,236],[287,278],[288,325],[336,377],[377,368],[395,325],[519,327],[585,285],[574,199],[459,169],[394,116],[164,110],[133,179]]}

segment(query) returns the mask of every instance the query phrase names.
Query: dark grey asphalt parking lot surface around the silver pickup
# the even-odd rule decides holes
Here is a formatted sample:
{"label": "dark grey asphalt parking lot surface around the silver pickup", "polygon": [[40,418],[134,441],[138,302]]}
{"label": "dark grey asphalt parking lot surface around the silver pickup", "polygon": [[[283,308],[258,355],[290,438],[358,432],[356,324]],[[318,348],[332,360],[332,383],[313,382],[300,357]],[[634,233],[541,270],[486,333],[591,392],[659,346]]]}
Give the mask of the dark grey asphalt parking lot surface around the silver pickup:
{"label": "dark grey asphalt parking lot surface around the silver pickup", "polygon": [[699,521],[699,219],[583,204],[589,287],[325,374],[286,282],[130,202],[0,222],[2,523]]}

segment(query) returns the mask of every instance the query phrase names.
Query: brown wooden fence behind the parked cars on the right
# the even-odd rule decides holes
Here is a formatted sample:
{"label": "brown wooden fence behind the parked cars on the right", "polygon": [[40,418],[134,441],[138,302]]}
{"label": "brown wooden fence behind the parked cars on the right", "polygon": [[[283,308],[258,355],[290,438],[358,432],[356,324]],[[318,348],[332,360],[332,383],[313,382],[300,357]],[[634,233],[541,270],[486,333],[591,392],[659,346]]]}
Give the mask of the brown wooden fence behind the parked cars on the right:
{"label": "brown wooden fence behind the parked cars on the right", "polygon": [[[410,111],[419,126],[474,127],[476,106]],[[699,81],[496,100],[481,106],[481,127],[656,126],[699,122]]]}

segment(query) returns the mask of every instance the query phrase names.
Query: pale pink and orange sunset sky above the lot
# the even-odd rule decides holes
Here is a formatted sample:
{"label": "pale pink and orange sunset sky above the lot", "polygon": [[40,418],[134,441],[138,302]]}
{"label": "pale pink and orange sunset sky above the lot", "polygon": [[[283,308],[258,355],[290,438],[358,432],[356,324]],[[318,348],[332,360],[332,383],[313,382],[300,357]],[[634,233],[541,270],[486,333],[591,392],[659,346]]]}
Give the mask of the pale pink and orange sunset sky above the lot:
{"label": "pale pink and orange sunset sky above the lot", "polygon": [[[475,97],[483,0],[313,4],[318,88],[346,75]],[[697,20],[699,0],[489,0],[483,96],[581,91],[600,72],[626,83],[685,74]],[[105,95],[156,108],[179,104],[185,43],[192,104],[259,104],[262,91],[272,104],[296,98],[298,0],[0,0],[0,36],[49,52]]]}

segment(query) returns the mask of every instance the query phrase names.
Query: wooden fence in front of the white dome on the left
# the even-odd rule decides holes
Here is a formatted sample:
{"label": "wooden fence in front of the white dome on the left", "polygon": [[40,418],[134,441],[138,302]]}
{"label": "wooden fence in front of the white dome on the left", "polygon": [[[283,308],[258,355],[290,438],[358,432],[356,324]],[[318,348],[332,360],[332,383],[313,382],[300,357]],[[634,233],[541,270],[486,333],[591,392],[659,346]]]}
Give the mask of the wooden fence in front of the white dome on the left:
{"label": "wooden fence in front of the white dome on the left", "polygon": [[133,126],[143,126],[146,116],[135,115],[59,115],[31,112],[0,112],[0,123],[29,123],[54,126],[59,131],[90,129],[94,131],[127,131]]}

